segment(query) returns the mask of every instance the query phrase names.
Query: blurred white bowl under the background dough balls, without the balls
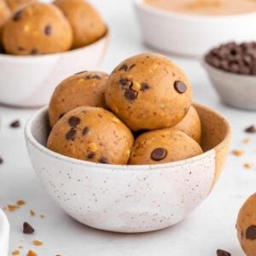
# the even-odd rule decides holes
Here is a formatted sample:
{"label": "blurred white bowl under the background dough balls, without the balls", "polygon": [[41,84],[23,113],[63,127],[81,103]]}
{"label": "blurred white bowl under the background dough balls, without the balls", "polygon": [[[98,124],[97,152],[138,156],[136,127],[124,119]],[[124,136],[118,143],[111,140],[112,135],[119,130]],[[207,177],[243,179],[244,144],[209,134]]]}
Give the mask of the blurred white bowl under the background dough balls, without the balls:
{"label": "blurred white bowl under the background dough balls, without the balls", "polygon": [[19,108],[46,105],[61,80],[96,70],[108,46],[108,32],[93,44],[51,55],[0,55],[0,103]]}

